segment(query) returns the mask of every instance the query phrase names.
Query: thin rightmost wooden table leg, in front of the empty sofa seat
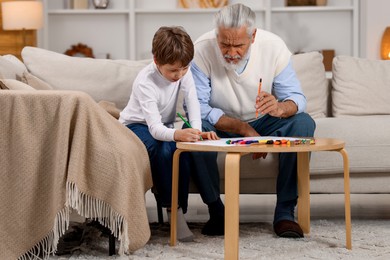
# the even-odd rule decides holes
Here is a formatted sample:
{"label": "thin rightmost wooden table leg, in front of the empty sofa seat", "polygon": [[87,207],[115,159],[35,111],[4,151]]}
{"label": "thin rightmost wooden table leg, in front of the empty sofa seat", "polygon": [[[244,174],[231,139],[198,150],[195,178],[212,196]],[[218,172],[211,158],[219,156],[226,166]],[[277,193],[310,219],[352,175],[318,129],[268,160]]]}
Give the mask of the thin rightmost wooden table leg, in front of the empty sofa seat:
{"label": "thin rightmost wooden table leg, in front of the empty sofa seat", "polygon": [[352,249],[351,239],[351,200],[349,190],[349,159],[345,149],[339,151],[343,156],[344,162],[344,207],[345,207],[345,231],[346,231],[346,248]]}

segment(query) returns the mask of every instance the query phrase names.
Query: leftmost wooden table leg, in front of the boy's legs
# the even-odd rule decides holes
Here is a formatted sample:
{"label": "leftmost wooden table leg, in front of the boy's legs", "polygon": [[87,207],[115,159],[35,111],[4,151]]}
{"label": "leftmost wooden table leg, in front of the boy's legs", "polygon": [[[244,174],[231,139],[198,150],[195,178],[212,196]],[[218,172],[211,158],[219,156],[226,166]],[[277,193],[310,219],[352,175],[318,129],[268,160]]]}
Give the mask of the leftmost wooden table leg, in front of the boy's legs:
{"label": "leftmost wooden table leg, in front of the boy's legs", "polygon": [[171,246],[177,241],[177,204],[179,190],[179,159],[182,150],[177,149],[173,154],[172,162],[172,202],[171,202]]}

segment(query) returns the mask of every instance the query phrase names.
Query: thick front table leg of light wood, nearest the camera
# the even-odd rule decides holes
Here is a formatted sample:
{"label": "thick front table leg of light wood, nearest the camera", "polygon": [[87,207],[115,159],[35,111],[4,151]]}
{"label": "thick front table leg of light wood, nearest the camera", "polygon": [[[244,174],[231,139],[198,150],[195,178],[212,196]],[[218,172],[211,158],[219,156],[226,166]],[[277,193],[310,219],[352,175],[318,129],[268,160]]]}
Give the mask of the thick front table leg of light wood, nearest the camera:
{"label": "thick front table leg of light wood, nearest the camera", "polygon": [[240,153],[227,153],[225,159],[225,259],[238,259]]}

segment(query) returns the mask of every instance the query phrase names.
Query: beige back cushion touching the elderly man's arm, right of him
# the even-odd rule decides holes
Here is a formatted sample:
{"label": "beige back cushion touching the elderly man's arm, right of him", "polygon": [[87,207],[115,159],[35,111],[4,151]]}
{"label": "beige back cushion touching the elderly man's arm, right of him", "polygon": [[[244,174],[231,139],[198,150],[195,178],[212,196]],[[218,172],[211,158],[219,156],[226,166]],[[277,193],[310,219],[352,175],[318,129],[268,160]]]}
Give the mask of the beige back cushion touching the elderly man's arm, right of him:
{"label": "beige back cushion touching the elderly man's arm, right of him", "polygon": [[319,52],[307,52],[292,56],[292,64],[306,96],[306,112],[313,118],[326,117],[329,87],[325,76],[323,56]]}

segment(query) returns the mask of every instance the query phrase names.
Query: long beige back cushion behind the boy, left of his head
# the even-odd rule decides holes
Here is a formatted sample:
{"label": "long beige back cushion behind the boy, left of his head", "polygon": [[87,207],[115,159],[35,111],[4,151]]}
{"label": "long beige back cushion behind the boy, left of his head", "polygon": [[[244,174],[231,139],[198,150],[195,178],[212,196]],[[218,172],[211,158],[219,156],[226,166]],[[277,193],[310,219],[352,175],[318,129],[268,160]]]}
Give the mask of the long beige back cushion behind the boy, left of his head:
{"label": "long beige back cushion behind the boy, left of his head", "polygon": [[84,91],[120,110],[127,105],[134,78],[151,62],[71,57],[35,47],[23,48],[22,57],[28,71],[53,89]]}

